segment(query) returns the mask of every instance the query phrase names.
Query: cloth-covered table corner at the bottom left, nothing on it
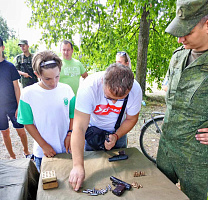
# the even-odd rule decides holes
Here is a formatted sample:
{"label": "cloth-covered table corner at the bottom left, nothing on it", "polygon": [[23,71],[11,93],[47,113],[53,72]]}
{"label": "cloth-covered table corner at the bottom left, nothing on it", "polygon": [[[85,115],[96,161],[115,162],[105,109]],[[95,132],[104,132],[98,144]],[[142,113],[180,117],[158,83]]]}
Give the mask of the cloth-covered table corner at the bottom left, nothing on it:
{"label": "cloth-covered table corner at the bottom left, nothing on it", "polygon": [[0,199],[35,200],[39,173],[30,159],[0,160]]}

